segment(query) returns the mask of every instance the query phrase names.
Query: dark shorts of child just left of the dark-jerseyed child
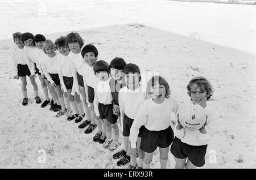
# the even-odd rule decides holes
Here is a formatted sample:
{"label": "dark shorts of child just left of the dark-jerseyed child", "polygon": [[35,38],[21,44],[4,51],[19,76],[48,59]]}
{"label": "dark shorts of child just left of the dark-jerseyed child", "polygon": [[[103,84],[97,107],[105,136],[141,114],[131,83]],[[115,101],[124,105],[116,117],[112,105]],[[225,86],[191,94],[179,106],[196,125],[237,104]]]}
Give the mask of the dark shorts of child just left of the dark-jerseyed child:
{"label": "dark shorts of child just left of the dark-jerseyed child", "polygon": [[107,119],[110,124],[114,124],[117,122],[117,115],[113,114],[113,105],[112,104],[98,104],[98,112],[100,113],[101,119]]}

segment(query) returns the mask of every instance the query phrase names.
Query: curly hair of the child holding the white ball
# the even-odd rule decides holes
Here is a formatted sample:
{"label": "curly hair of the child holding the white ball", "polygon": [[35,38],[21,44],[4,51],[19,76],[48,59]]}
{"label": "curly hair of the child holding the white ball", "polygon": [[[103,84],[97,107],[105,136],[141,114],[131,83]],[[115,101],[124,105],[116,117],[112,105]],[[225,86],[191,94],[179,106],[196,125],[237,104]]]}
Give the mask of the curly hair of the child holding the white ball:
{"label": "curly hair of the child holding the white ball", "polygon": [[212,84],[210,84],[208,79],[204,78],[203,76],[196,76],[195,78],[191,79],[187,85],[189,97],[191,97],[191,85],[193,84],[197,84],[197,87],[199,87],[201,91],[206,91],[207,95],[209,95],[207,97],[207,100],[210,99],[213,93],[213,88],[212,88]]}

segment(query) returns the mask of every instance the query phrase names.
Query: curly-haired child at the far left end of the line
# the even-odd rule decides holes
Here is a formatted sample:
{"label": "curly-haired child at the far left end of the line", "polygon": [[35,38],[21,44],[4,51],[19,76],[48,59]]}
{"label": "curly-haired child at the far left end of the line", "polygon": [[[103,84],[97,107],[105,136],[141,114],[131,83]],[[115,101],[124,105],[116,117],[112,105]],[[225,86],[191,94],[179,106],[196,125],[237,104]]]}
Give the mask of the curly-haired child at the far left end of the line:
{"label": "curly-haired child at the far left end of the line", "polygon": [[21,40],[22,33],[15,32],[13,33],[13,41],[16,45],[13,46],[11,57],[13,59],[14,67],[15,67],[15,79],[20,79],[22,82],[22,95],[23,101],[22,105],[26,106],[28,103],[27,98],[27,78],[26,76],[30,77],[30,82],[33,85],[34,91],[37,89],[37,84],[35,82],[35,77],[31,76],[30,69],[27,66],[26,57],[24,55],[24,44]]}

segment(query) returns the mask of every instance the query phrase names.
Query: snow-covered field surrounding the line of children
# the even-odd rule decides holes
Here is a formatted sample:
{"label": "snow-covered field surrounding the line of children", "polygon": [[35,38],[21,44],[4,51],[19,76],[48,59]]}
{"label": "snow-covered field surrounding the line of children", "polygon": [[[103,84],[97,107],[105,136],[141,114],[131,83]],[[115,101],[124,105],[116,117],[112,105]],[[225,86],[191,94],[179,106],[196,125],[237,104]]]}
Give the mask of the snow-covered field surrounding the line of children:
{"label": "snow-covered field surrounding the line of children", "polygon": [[[93,143],[96,132],[85,135],[77,123],[55,118],[48,106],[35,104],[29,81],[28,105],[22,106],[10,56],[16,31],[42,33],[51,40],[79,32],[86,44],[98,48],[98,59],[122,57],[142,72],[159,72],[180,102],[190,101],[189,80],[206,76],[215,90],[208,103],[221,120],[203,168],[256,168],[256,6],[163,0],[1,2],[0,168],[119,168],[114,152]],[[167,167],[174,166],[169,153]],[[159,167],[156,151],[151,168]]]}

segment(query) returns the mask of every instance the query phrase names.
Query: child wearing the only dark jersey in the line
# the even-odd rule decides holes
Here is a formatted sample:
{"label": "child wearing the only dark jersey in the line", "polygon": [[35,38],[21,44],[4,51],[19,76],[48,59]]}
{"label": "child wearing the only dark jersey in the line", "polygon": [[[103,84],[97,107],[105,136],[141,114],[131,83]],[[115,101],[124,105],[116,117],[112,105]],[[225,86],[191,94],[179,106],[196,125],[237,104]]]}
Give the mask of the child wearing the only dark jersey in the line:
{"label": "child wearing the only dark jersey in the line", "polygon": [[[113,104],[113,113],[114,115],[118,116],[119,119],[119,125],[121,125],[121,119],[120,119],[120,110],[119,110],[119,102],[118,102],[118,94],[122,87],[125,87],[125,79],[123,77],[122,69],[126,66],[125,60],[123,58],[114,58],[110,62],[110,74],[112,76],[112,79],[110,79],[110,89],[112,93],[112,104]],[[122,127],[121,127],[122,131]],[[125,156],[127,153],[127,149],[123,149],[122,151],[119,151],[113,155],[114,159],[121,158]]]}

